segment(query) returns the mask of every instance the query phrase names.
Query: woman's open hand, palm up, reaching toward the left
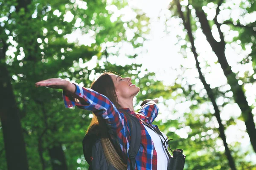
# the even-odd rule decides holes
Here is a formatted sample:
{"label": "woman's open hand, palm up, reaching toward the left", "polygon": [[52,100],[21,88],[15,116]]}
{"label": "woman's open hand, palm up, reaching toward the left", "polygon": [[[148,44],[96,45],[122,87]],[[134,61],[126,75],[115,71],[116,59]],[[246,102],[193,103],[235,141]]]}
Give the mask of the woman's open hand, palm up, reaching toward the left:
{"label": "woman's open hand, palm up, reaching toward the left", "polygon": [[58,78],[51,78],[51,79],[46,79],[42,80],[40,82],[36,82],[35,86],[45,86],[49,88],[58,88],[58,89],[63,89],[67,90],[71,83],[65,79],[58,79]]}

